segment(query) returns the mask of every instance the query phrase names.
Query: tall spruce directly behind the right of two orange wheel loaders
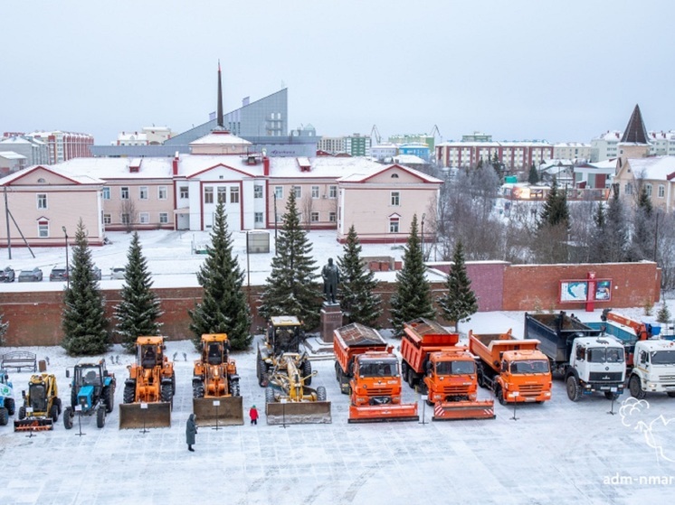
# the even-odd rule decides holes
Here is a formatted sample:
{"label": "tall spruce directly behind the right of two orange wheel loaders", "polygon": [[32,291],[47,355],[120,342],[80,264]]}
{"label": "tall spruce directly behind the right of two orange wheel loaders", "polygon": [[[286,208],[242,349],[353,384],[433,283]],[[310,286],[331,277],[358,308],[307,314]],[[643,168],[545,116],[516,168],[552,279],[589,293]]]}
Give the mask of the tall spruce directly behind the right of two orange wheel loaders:
{"label": "tall spruce directly behind the right of two orange wheel loaders", "polygon": [[201,349],[204,333],[227,333],[235,351],[251,345],[251,308],[243,291],[243,274],[237,257],[233,256],[232,233],[227,228],[221,202],[215,209],[211,245],[207,246],[204,264],[197,272],[197,281],[204,288],[202,302],[189,311],[195,349]]}

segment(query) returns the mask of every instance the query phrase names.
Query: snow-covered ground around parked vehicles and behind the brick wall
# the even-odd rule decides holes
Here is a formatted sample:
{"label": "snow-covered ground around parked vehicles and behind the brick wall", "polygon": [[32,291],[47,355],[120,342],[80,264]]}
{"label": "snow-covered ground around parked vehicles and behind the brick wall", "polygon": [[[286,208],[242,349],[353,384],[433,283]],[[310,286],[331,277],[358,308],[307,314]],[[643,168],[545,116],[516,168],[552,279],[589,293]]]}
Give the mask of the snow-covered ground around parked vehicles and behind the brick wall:
{"label": "snow-covered ground around parked vehicles and behind the brick wall", "polygon": [[[162,279],[175,284],[194,278],[203,257],[191,254],[191,243],[206,242],[207,234],[193,235],[148,232],[141,236],[156,285],[165,282]],[[126,263],[128,235],[112,238],[112,245],[93,249],[104,273]],[[330,234],[312,233],[310,238],[319,266],[328,256],[342,254]],[[235,242],[245,267],[245,237],[235,235]],[[17,271],[45,267],[48,276],[53,264],[64,262],[64,252],[57,248],[35,252],[33,259],[27,249],[15,248],[9,264]],[[364,248],[365,256],[400,257],[400,253],[391,246]],[[252,275],[256,271],[262,276],[271,255],[249,256]],[[24,286],[29,285],[14,283],[0,289]],[[45,281],[40,288],[61,286]],[[673,304],[670,311],[675,313]],[[622,312],[638,316],[642,310]],[[582,320],[599,319],[598,312],[576,315]],[[479,313],[461,324],[460,330],[513,328],[521,336],[522,327],[522,313]],[[49,358],[48,369],[58,378],[60,396],[69,397],[65,369],[77,360],[58,347],[24,349],[36,352],[39,359]],[[168,342],[166,352],[176,353],[177,391],[170,428],[146,434],[119,430],[117,406],[103,429],[96,428],[93,418],[84,417],[82,436],[77,424],[65,430],[61,418],[52,432],[33,437],[14,433],[10,420],[10,426],[0,426],[4,473],[0,503],[665,503],[675,491],[675,430],[668,424],[675,420],[675,398],[648,396],[641,408],[632,408],[627,394],[613,405],[604,397],[572,403],[562,382],[554,381],[551,401],[518,407],[515,412],[497,403],[494,420],[432,422],[430,407],[424,407],[424,423],[421,419],[349,425],[348,398],[340,394],[333,360],[326,355],[314,356],[318,376],[312,386],[327,388],[332,424],[283,428],[266,425],[262,415],[259,426],[220,430],[204,426],[197,435],[196,452],[188,453],[185,421],[192,405],[196,353],[187,341]],[[118,378],[119,404],[131,357],[116,346],[105,358],[109,362],[118,355],[120,364],[109,365],[109,370]],[[253,350],[233,354],[242,377],[244,409],[255,404],[264,412],[254,356]],[[31,374],[24,370],[10,375],[18,399]],[[404,393],[406,401],[419,401],[407,385]],[[480,394],[490,397],[486,390]],[[636,426],[642,426],[642,431]]]}

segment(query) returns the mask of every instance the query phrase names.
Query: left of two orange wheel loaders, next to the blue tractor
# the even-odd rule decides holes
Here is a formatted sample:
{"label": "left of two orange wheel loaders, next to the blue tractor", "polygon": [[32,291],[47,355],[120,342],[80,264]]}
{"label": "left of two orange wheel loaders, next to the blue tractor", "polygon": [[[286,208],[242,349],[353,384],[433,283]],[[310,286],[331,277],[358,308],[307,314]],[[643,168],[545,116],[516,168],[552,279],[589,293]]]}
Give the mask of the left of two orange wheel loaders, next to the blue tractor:
{"label": "left of two orange wheel loaders, next to the blue tractor", "polygon": [[164,354],[164,339],[154,336],[136,340],[136,363],[128,365],[119,429],[171,426],[176,375],[173,363]]}

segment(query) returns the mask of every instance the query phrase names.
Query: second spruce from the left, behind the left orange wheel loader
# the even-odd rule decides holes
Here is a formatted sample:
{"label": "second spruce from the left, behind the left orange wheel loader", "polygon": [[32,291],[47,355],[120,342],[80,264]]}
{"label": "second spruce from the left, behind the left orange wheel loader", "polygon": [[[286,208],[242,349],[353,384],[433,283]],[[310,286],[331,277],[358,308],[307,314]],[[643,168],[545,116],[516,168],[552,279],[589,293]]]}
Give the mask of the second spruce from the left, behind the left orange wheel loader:
{"label": "second spruce from the left, behind the left orange wheel loader", "polygon": [[136,339],[144,335],[158,335],[162,323],[157,319],[163,314],[157,295],[152,291],[152,280],[147,271],[138,232],[134,231],[127,253],[127,266],[122,286],[122,301],[115,306],[117,325],[115,333],[128,352],[136,349]]}

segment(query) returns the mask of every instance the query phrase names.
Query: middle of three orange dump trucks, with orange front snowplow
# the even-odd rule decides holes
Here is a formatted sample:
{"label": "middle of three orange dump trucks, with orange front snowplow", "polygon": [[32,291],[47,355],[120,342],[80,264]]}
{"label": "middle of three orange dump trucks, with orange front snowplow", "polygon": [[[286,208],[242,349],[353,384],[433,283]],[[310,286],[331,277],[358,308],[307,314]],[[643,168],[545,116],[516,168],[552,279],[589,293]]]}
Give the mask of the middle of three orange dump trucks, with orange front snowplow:
{"label": "middle of three orange dump trucks, with orange front snowplow", "polygon": [[404,323],[401,369],[411,388],[433,405],[434,421],[494,419],[494,402],[478,398],[476,361],[459,333],[427,319]]}

